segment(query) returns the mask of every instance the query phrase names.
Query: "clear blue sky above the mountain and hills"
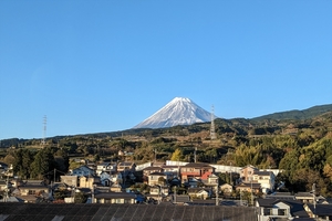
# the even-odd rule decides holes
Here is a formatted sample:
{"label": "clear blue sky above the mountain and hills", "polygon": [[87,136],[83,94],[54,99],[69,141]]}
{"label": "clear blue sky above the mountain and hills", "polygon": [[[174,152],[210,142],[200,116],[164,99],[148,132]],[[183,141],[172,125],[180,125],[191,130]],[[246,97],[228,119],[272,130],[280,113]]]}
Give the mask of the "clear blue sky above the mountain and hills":
{"label": "clear blue sky above the mountain and hills", "polygon": [[0,1],[0,139],[332,103],[331,0]]}

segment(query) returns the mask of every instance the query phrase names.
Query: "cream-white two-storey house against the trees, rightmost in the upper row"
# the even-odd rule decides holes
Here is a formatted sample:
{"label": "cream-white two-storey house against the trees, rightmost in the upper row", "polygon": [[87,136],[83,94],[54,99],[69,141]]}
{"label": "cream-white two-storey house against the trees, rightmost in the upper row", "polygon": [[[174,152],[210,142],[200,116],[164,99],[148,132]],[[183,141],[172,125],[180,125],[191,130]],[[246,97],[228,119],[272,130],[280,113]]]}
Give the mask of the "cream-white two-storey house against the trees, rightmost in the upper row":
{"label": "cream-white two-storey house against the trees, rightmost in the upper row", "polygon": [[274,189],[276,176],[272,171],[255,170],[252,175],[252,182],[260,183],[262,192],[269,193]]}

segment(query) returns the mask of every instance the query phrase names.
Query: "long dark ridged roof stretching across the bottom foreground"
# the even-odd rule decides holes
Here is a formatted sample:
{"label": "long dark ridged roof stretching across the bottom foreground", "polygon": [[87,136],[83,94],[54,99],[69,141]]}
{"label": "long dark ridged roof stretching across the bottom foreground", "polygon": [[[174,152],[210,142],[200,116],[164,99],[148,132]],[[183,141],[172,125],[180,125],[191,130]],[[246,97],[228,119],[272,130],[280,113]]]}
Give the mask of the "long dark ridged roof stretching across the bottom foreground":
{"label": "long dark ridged roof stretching across the bottom foreground", "polygon": [[255,208],[173,204],[1,203],[0,218],[11,220],[186,220],[256,221]]}

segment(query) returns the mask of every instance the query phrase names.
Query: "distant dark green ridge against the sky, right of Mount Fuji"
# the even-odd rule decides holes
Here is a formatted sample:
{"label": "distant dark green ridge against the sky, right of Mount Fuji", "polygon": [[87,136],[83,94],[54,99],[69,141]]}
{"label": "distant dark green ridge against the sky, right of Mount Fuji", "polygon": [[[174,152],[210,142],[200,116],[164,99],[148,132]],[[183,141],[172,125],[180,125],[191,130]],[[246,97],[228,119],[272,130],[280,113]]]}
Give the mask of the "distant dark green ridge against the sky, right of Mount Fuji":
{"label": "distant dark green ridge against the sky, right of Mount Fuji", "polygon": [[312,117],[317,117],[321,114],[332,110],[332,104],[313,106],[308,109],[293,109],[289,112],[279,112],[274,114],[268,114],[260,117],[252,118],[253,120],[264,120],[264,119],[309,119]]}

